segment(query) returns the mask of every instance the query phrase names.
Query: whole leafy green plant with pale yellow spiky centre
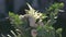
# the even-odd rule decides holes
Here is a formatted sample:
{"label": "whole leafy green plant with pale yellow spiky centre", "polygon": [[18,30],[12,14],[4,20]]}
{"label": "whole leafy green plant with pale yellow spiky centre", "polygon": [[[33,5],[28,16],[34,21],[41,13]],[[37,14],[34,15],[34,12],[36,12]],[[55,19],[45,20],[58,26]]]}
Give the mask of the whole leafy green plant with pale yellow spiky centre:
{"label": "whole leafy green plant with pale yellow spiky centre", "polygon": [[36,30],[34,32],[36,37],[55,37],[55,34],[59,34],[62,37],[62,28],[55,30],[53,25],[56,23],[55,18],[57,18],[58,10],[64,5],[63,3],[52,4],[46,13],[41,13],[34,10],[30,4],[28,5],[30,10],[25,10],[26,14],[24,15],[9,12],[11,24],[19,29],[18,32],[20,32],[19,35],[21,37],[33,37],[32,29]]}

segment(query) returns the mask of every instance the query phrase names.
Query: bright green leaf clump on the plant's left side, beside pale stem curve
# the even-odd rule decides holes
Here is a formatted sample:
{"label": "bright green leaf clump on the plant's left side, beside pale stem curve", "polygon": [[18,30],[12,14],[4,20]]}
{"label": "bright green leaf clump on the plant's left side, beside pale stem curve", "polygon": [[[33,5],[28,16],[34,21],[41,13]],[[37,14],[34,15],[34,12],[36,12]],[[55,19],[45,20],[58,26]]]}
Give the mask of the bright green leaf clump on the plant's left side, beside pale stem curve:
{"label": "bright green leaf clump on the plant's left side, beside pale stem curve", "polygon": [[16,26],[21,25],[22,24],[22,21],[19,18],[19,15],[18,14],[14,14],[12,12],[9,12],[9,17],[10,17],[10,23],[11,24],[14,24]]}

